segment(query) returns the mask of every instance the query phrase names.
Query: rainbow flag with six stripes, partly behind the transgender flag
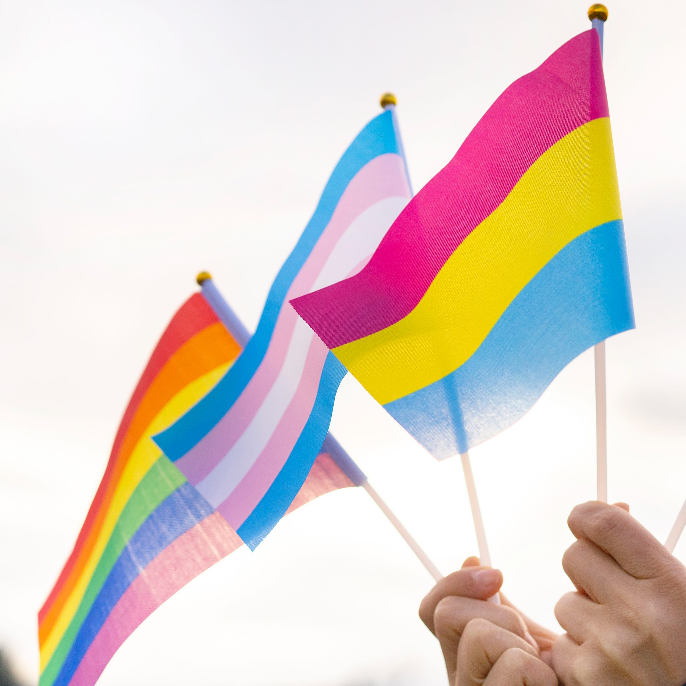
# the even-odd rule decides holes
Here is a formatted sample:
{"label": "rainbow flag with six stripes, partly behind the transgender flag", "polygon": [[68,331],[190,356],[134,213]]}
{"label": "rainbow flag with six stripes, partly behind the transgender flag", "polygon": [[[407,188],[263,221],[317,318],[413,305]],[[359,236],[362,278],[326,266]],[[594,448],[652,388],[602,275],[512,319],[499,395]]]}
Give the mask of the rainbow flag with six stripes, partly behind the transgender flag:
{"label": "rainbow flag with six stripes, partly behind the transgender flag", "polygon": [[[150,438],[209,392],[240,351],[200,293],[163,333],[73,552],[38,614],[40,686],[92,686],[145,617],[242,545]],[[322,452],[289,511],[353,485]]]}

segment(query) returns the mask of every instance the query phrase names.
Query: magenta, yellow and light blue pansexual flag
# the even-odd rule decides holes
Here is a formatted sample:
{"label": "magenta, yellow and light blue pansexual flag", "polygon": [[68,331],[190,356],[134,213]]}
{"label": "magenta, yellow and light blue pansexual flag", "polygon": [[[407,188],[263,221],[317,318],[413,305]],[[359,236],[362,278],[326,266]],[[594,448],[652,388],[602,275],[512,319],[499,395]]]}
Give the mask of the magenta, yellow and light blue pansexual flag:
{"label": "magenta, yellow and light blue pansexual flag", "polygon": [[362,271],[292,303],[439,459],[632,328],[598,33],[506,89]]}

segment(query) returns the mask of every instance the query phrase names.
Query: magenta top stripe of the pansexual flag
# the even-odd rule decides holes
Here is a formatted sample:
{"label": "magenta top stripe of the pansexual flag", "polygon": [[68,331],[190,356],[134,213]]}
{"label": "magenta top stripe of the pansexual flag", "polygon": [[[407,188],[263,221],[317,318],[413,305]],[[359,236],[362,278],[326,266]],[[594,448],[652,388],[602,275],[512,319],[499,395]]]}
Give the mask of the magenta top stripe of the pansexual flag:
{"label": "magenta top stripe of the pansexual flag", "polygon": [[536,159],[582,124],[607,116],[600,41],[591,29],[506,89],[447,167],[407,204],[366,268],[293,306],[329,348],[399,322]]}

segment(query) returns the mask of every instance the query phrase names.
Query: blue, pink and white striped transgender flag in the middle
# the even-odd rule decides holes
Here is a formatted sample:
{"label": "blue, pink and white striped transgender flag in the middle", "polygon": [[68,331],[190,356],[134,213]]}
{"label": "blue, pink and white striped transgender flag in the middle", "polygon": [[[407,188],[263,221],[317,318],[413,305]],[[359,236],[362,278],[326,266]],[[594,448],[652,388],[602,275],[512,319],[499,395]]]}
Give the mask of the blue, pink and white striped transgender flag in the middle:
{"label": "blue, pink and white striped transgender flag in the middle", "polygon": [[346,374],[288,301],[362,269],[411,196],[391,107],[336,165],[244,352],[211,392],[154,436],[251,549],[303,486]]}

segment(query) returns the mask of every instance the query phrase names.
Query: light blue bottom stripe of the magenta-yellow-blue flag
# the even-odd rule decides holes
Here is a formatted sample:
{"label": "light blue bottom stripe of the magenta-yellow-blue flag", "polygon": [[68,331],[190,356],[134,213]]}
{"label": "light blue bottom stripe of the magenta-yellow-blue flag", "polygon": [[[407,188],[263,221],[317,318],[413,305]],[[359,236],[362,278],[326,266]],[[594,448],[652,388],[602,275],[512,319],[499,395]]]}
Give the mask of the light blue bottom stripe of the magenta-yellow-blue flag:
{"label": "light blue bottom stripe of the magenta-yellow-blue flag", "polygon": [[514,424],[574,357],[634,325],[624,226],[608,222],[560,250],[462,366],[384,407],[449,458]]}

